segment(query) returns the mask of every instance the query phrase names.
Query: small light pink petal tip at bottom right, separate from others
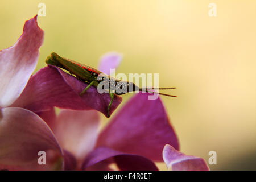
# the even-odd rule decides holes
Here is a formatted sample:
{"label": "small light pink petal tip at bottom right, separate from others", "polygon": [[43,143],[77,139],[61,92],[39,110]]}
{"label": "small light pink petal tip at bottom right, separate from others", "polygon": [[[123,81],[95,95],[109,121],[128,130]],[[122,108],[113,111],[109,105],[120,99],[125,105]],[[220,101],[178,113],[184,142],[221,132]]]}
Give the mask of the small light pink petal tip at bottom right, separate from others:
{"label": "small light pink petal tip at bottom right, separate from others", "polygon": [[174,147],[166,144],[163,149],[163,160],[168,169],[173,171],[208,171],[209,167],[204,159],[185,155],[180,151],[175,150]]}

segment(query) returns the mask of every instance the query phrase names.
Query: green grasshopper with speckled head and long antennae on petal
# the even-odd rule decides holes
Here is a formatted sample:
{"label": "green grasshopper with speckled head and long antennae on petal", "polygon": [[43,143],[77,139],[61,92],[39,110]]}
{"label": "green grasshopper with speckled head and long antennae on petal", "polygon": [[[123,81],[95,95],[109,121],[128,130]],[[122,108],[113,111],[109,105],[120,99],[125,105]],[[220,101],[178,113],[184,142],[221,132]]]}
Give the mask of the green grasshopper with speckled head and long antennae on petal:
{"label": "green grasshopper with speckled head and long antennae on petal", "polygon": [[[55,52],[52,52],[51,55],[47,57],[46,63],[49,65],[54,65],[56,67],[65,69],[69,71],[71,75],[73,74],[77,78],[79,78],[79,80],[87,82],[89,85],[86,86],[84,90],[82,90],[82,92],[80,93],[80,96],[85,94],[86,90],[88,90],[92,85],[96,87],[104,85],[104,88],[108,90],[108,93],[111,99],[108,106],[108,114],[107,114],[108,118],[110,116],[109,111],[110,111],[110,107],[112,106],[115,94],[122,95],[127,92],[134,92],[134,91],[144,91],[148,93],[154,93],[154,91],[152,90],[150,91],[148,88],[139,88],[133,82],[115,79],[113,77],[110,77],[109,75],[106,75],[105,73],[98,71],[97,69],[89,67],[88,65],[84,65],[76,61],[69,60],[64,57],[60,57]],[[150,89],[154,89],[154,88],[150,88]],[[158,89],[175,89],[175,88],[158,88]],[[169,97],[176,97],[176,96],[172,96],[164,93],[158,93],[158,94],[169,96]]]}

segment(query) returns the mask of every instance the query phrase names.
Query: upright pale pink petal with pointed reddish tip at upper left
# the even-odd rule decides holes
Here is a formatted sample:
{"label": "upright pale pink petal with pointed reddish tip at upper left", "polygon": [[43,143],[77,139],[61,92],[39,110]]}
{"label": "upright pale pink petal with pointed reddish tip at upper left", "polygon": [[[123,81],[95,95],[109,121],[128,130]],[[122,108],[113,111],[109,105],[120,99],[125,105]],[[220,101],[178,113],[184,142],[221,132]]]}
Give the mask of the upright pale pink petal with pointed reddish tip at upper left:
{"label": "upright pale pink petal with pointed reddish tip at upper left", "polygon": [[36,68],[43,37],[35,16],[25,23],[14,46],[0,51],[0,107],[11,105],[22,93]]}

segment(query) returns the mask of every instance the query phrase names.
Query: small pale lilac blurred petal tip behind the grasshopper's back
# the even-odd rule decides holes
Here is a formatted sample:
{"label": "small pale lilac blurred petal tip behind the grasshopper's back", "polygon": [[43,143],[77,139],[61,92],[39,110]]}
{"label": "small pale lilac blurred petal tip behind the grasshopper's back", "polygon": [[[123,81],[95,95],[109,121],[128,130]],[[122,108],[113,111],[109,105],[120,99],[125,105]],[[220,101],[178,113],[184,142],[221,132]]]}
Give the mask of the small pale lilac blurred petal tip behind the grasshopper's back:
{"label": "small pale lilac blurred petal tip behind the grasshopper's back", "polygon": [[115,69],[121,63],[122,55],[117,52],[109,52],[101,57],[98,69],[110,75],[110,69]]}

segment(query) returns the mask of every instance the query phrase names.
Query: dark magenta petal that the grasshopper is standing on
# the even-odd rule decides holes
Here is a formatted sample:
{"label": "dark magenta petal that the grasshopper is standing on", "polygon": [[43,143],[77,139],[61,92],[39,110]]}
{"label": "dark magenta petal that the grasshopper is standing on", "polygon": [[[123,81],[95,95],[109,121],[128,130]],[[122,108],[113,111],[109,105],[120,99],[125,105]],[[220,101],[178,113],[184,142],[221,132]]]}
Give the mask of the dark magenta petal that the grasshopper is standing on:
{"label": "dark magenta petal that the grasshopper is standing on", "polygon": [[[31,77],[12,106],[23,107],[36,113],[54,106],[73,110],[95,109],[107,115],[109,94],[100,94],[96,87],[91,86],[83,96],[80,96],[79,93],[87,85],[57,67],[48,66]],[[122,97],[115,96],[110,113],[113,113],[121,101]]]}

